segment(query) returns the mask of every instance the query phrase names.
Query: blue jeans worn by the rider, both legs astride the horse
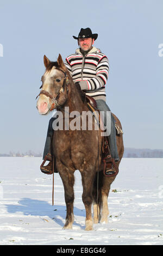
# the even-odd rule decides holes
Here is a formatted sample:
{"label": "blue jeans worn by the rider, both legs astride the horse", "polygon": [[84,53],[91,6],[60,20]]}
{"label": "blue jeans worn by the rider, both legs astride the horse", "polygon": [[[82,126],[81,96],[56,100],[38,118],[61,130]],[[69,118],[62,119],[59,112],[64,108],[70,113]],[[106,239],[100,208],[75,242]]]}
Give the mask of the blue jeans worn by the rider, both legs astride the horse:
{"label": "blue jeans worn by the rider, both legs astride the horse", "polygon": [[[106,104],[106,102],[104,100],[96,100],[97,102],[97,109],[99,109],[99,111],[103,111],[102,118],[104,121],[104,125],[106,126],[106,113],[107,111],[110,112],[110,108],[108,107],[108,105]],[[53,121],[56,119],[57,117],[52,117],[49,120],[49,125],[48,125],[48,130],[47,130],[47,137],[46,137],[46,142],[45,142],[45,148],[43,151],[43,159],[45,158],[45,156],[48,153],[51,153],[51,142],[52,142],[52,137],[53,137]],[[107,124],[109,125],[109,129],[106,128],[106,130],[109,130],[109,144],[110,144],[110,154],[111,157],[115,160],[115,161],[119,161],[119,156],[118,156],[118,151],[117,151],[117,144],[116,144],[116,130],[115,130],[115,119],[111,114],[111,127],[110,127],[110,123]]]}

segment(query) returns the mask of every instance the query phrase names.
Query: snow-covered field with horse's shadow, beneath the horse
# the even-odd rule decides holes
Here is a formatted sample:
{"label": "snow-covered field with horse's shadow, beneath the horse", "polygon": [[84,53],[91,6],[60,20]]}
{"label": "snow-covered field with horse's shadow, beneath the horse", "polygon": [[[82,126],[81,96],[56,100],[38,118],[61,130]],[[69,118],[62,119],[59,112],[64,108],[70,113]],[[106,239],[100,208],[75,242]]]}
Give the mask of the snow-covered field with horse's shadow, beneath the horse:
{"label": "snow-covered field with horse's shadow, beneath the horse", "polygon": [[76,171],[74,224],[59,174],[40,172],[41,157],[1,157],[0,245],[163,245],[163,159],[123,159],[109,194],[109,222],[85,231]]}

